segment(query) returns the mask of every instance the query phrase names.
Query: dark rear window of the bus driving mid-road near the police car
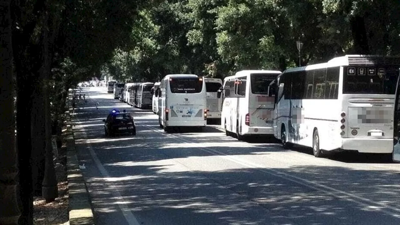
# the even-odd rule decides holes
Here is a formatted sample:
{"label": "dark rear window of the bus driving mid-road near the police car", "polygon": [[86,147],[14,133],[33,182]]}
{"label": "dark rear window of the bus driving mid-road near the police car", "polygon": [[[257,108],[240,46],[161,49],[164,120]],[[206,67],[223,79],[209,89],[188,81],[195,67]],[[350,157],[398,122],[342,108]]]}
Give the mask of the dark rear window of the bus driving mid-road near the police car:
{"label": "dark rear window of the bus driving mid-road near the police car", "polygon": [[172,93],[200,93],[203,89],[203,80],[199,78],[171,78]]}

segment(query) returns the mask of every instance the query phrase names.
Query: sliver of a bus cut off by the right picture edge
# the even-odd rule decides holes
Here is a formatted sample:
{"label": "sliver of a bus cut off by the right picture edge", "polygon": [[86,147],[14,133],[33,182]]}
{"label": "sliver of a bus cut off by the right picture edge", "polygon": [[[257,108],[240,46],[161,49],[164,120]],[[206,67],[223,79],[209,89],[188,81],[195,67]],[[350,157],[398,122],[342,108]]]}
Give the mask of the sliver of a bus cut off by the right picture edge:
{"label": "sliver of a bus cut off by the right picture edge", "polygon": [[400,163],[400,76],[397,78],[396,94],[394,98],[393,119],[393,161]]}

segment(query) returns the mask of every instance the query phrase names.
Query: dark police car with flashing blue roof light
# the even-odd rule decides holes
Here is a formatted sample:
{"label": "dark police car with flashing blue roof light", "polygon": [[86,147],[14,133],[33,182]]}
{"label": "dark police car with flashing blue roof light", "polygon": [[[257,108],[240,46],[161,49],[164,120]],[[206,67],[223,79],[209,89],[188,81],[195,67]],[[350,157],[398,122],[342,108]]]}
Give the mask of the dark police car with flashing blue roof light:
{"label": "dark police car with flashing blue roof light", "polygon": [[121,133],[136,135],[136,126],[132,115],[125,110],[120,112],[113,109],[104,122],[104,133],[106,136],[114,136]]}

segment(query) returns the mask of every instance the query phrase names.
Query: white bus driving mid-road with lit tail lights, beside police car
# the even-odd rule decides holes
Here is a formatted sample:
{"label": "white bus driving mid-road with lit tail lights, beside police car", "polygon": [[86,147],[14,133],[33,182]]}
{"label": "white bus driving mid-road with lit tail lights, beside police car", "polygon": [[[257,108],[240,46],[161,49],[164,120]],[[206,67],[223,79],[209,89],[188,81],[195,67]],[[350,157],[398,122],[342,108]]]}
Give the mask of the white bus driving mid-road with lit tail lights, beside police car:
{"label": "white bus driving mid-road with lit tail lights, beside police car", "polygon": [[164,131],[173,127],[207,125],[206,82],[193,74],[169,74],[160,84],[158,123]]}

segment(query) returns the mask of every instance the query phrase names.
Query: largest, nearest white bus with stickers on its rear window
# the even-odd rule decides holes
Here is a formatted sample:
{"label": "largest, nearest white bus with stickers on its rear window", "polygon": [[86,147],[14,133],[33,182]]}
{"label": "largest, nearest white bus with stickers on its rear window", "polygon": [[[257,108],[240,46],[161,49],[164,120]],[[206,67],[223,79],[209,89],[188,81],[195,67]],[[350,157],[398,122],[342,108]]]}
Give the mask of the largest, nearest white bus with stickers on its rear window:
{"label": "largest, nearest white bus with stickers on its rear window", "polygon": [[[324,151],[392,153],[400,57],[346,55],[277,78],[274,135]],[[323,149],[324,151],[322,151]]]}

